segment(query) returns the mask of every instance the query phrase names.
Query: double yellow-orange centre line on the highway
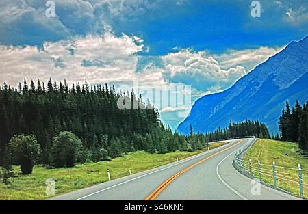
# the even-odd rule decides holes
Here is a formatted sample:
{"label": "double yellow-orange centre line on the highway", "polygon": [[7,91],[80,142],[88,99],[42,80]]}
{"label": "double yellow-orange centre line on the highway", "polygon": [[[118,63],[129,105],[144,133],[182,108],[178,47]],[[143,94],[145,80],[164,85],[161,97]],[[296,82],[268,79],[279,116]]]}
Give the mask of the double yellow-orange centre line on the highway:
{"label": "double yellow-orange centre line on the highway", "polygon": [[198,161],[197,163],[194,163],[190,166],[188,166],[187,168],[179,171],[177,174],[171,176],[170,178],[168,178],[168,180],[166,180],[164,183],[162,183],[162,185],[160,185],[159,187],[157,187],[151,194],[149,194],[149,196],[147,196],[146,198],[144,198],[144,200],[155,200],[157,198],[157,196],[159,196],[160,193],[162,193],[162,191],[164,191],[164,189],[166,189],[166,187],[168,187],[168,185],[170,185],[170,183],[175,180],[175,178],[179,177],[181,174],[183,174],[184,172],[190,170],[191,168],[194,168],[196,165],[203,163],[204,161],[210,159],[211,157],[214,157],[218,154],[220,154],[221,152],[227,151],[230,148],[237,146],[238,144],[242,143],[242,140],[240,140],[240,142],[233,144],[232,146],[229,146],[228,148],[224,148],[223,150],[220,150],[212,155],[209,155],[208,157],[206,157],[205,159],[202,159],[201,161]]}

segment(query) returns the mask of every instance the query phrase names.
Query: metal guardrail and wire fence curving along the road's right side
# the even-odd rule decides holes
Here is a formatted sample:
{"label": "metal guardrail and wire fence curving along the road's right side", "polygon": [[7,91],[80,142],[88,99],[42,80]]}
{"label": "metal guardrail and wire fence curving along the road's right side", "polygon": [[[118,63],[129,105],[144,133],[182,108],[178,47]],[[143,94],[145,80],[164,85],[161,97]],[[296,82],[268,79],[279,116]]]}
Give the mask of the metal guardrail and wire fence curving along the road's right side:
{"label": "metal guardrail and wire fence curving along the road's right side", "polygon": [[[233,165],[242,174],[251,178],[257,178],[261,183],[270,185],[274,189],[280,189],[289,193],[295,192],[300,198],[308,198],[308,170],[300,164],[298,168],[289,168],[276,165],[275,162],[263,164],[260,160],[244,159],[244,153],[253,144],[246,144],[235,152]],[[305,190],[305,191],[304,191]]]}

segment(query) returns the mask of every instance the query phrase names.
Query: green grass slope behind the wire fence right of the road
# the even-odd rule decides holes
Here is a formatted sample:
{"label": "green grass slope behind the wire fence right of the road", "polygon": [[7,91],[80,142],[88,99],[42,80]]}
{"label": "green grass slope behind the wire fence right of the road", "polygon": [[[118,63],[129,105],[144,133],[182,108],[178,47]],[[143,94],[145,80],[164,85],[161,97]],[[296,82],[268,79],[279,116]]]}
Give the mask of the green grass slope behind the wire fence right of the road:
{"label": "green grass slope behind the wire fence right of the road", "polygon": [[252,168],[256,169],[253,171],[253,176],[256,178],[259,178],[259,173],[257,172],[257,161],[261,161],[261,178],[269,185],[274,184],[272,175],[272,163],[274,161],[277,165],[277,187],[289,191],[296,196],[300,196],[297,170],[298,163],[300,163],[304,170],[304,197],[308,198],[308,171],[305,171],[308,170],[308,158],[305,152],[300,151],[298,144],[279,142],[270,139],[257,139],[257,142],[255,142],[253,147],[248,150],[244,157],[247,171],[249,169],[249,159],[252,161]]}

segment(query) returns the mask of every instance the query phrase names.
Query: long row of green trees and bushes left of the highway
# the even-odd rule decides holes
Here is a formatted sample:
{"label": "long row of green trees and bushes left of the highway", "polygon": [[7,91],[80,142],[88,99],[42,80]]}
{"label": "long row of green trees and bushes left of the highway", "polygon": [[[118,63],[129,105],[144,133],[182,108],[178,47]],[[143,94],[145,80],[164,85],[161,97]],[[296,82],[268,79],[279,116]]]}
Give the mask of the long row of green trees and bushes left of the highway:
{"label": "long row of green trees and bushes left of the highway", "polygon": [[[120,98],[131,107],[118,108]],[[123,99],[122,99],[123,100]],[[125,103],[127,107],[127,103]],[[137,105],[138,109],[134,109]],[[128,105],[129,106],[129,105]],[[18,88],[0,88],[0,165],[21,165],[31,173],[35,164],[72,167],[85,161],[110,161],[127,152],[166,153],[199,150],[214,140],[255,135],[268,137],[258,121],[230,122],[227,129],[185,136],[159,120],[157,109],[142,96],[116,92],[114,86],[24,80]],[[7,176],[5,176],[7,177]]]}

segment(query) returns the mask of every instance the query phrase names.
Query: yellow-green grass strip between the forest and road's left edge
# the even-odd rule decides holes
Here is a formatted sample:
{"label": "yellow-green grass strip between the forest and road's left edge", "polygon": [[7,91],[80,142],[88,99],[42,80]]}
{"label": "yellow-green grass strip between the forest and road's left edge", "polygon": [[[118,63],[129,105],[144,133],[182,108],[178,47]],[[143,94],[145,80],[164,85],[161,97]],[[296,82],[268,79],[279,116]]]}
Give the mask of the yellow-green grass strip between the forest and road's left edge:
{"label": "yellow-green grass strip between the forest and road's left edge", "polygon": [[[217,148],[226,143],[211,144],[210,148]],[[55,180],[55,193],[68,193],[84,187],[89,187],[108,180],[107,168],[110,169],[112,179],[129,175],[131,172],[137,173],[144,170],[156,168],[179,159],[185,159],[192,155],[204,152],[196,150],[194,152],[171,152],[167,154],[149,154],[148,152],[132,152],[123,157],[118,157],[110,162],[84,163],[76,165],[74,168],[46,169],[42,166],[35,166],[32,174],[18,174],[15,178],[10,178],[11,184],[0,183],[0,200],[40,200],[48,198],[45,194],[45,181],[48,178]],[[19,168],[14,167],[18,172]]]}

